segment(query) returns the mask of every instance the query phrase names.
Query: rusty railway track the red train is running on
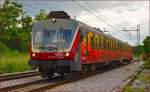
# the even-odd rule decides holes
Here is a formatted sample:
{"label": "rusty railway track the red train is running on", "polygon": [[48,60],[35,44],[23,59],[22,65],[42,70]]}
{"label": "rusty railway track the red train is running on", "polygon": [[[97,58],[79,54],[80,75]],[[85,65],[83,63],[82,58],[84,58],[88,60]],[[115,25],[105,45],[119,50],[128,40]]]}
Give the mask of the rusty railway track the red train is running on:
{"label": "rusty railway track the red train is running on", "polygon": [[51,80],[41,79],[41,80],[29,82],[29,83],[19,84],[19,85],[15,85],[15,86],[11,86],[11,87],[5,87],[5,88],[2,88],[1,91],[3,91],[3,92],[8,92],[8,91],[12,91],[12,92],[22,92],[22,91],[24,91],[24,92],[42,92],[43,90],[46,90],[46,89],[52,89],[59,85],[76,82],[81,79],[84,79],[84,78],[87,78],[87,77],[90,77],[90,76],[93,76],[93,75],[96,75],[99,73],[103,73],[103,72],[106,72],[106,71],[109,71],[112,69],[120,68],[121,66],[123,66],[123,65],[107,67],[107,68],[100,69],[100,70],[97,70],[97,71],[94,71],[91,73],[87,73],[84,75],[80,75],[80,76],[78,74],[76,74],[76,76],[73,75],[74,77],[70,77],[70,78],[56,77]]}

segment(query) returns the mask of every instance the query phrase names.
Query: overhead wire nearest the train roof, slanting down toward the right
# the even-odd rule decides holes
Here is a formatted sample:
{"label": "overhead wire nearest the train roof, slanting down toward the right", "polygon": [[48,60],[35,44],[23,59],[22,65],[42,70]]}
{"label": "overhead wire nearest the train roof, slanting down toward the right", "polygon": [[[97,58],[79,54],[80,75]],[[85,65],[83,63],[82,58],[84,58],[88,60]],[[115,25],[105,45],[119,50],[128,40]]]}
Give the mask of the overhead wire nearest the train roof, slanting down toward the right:
{"label": "overhead wire nearest the train roof, slanting down toward the right", "polygon": [[[87,12],[89,12],[90,14],[94,15],[97,19],[99,19],[100,21],[103,21],[105,24],[109,25],[111,28],[118,30],[117,28],[113,27],[111,24],[107,23],[104,19],[102,19],[101,17],[97,16],[95,13],[93,13],[92,11],[90,11],[89,9],[83,7],[82,5],[78,4],[76,1],[72,0],[76,5],[78,5],[79,7],[81,7],[82,9],[86,10]],[[120,31],[120,30],[119,30]],[[122,32],[122,31],[121,31]]]}

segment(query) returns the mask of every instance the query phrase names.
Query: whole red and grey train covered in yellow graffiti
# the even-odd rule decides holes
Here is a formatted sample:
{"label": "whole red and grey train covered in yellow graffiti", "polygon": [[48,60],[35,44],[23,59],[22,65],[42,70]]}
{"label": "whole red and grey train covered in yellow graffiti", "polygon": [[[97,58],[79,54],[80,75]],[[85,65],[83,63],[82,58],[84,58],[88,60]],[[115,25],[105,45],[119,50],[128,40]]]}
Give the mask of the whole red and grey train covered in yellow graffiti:
{"label": "whole red and grey train covered in yellow graffiti", "polygon": [[32,28],[29,65],[42,77],[72,71],[87,72],[112,62],[130,62],[131,46],[100,29],[53,11]]}

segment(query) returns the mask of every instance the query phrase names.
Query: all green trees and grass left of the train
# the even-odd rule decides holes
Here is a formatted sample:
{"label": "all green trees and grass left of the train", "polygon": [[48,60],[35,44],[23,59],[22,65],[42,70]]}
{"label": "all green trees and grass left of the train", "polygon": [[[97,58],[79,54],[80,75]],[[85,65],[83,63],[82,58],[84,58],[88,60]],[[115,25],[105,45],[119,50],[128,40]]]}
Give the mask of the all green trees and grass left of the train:
{"label": "all green trees and grass left of the train", "polygon": [[4,0],[0,7],[0,74],[30,70],[28,47],[33,23],[48,13],[29,16],[19,1]]}

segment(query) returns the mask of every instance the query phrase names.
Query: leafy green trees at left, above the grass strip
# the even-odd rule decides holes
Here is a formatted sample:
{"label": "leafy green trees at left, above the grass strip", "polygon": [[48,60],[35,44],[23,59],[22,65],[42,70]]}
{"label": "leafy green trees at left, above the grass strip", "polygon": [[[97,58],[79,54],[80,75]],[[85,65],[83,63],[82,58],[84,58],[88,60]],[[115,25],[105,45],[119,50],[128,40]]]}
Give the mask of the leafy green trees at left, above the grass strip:
{"label": "leafy green trees at left, above the grass strip", "polygon": [[27,50],[33,20],[25,14],[22,5],[4,1],[0,9],[0,43],[11,49]]}

